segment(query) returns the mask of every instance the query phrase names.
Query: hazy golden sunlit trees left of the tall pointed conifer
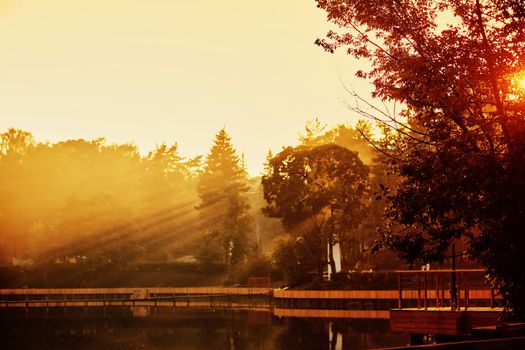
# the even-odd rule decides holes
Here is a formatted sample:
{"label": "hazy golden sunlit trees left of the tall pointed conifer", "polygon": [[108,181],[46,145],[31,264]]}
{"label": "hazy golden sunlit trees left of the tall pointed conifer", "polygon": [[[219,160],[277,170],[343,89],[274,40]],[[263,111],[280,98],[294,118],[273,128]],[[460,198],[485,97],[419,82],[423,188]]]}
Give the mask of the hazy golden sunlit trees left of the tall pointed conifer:
{"label": "hazy golden sunlit trees left of the tall pointed conifer", "polygon": [[[141,157],[104,139],[37,143],[0,135],[0,257],[161,259],[191,228],[195,183],[176,145]],[[170,248],[171,249],[171,248]]]}

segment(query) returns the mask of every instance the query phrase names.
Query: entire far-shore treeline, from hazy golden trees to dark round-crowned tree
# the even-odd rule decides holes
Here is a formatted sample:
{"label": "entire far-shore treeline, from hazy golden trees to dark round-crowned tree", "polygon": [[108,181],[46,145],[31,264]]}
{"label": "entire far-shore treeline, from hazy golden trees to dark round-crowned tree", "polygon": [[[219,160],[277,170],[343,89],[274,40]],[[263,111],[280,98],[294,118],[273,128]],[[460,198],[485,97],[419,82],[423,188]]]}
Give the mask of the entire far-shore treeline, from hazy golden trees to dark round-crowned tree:
{"label": "entire far-shore treeline, from hazy golden trees to dark round-crowned tree", "polygon": [[[367,142],[370,126],[357,128],[309,122],[298,146],[268,154],[262,184],[225,129],[205,157],[192,159],[177,144],[141,156],[131,144],[41,143],[7,130],[0,254],[9,264],[190,261],[229,271],[231,282],[271,274],[298,284],[321,277],[327,261],[334,268],[327,248],[340,244],[345,270],[392,267],[392,256],[370,248],[385,207],[376,197],[395,179]],[[277,170],[283,165],[296,168]]]}

